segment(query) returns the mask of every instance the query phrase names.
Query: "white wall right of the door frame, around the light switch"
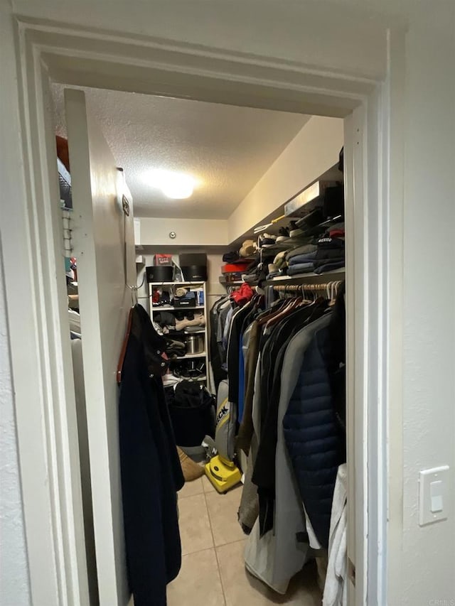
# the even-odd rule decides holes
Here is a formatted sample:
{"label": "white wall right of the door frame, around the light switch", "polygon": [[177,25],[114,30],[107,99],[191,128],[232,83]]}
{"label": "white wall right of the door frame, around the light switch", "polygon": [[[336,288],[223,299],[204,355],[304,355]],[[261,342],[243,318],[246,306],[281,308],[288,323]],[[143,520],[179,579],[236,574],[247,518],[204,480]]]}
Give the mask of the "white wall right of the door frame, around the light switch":
{"label": "white wall right of the door frame, around the light switch", "polygon": [[[410,606],[455,604],[454,11],[446,18],[450,37],[416,24],[406,44],[402,593],[393,603]],[[421,528],[419,470],[445,464],[449,519]]]}

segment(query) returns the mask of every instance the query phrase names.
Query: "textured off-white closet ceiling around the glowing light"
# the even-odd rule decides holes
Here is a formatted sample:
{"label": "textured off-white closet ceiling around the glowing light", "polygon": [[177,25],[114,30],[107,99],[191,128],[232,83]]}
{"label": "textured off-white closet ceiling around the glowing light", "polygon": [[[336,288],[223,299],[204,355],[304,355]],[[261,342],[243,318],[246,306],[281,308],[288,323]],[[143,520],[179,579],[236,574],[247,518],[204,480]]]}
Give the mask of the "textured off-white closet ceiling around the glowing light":
{"label": "textured off-white closet ceiling around the glowing light", "polygon": [[[229,217],[309,119],[146,94],[85,94],[124,168],[137,217]],[[63,87],[54,85],[53,95],[57,133],[65,135]],[[151,168],[191,173],[199,185],[191,198],[169,200],[145,182]]]}

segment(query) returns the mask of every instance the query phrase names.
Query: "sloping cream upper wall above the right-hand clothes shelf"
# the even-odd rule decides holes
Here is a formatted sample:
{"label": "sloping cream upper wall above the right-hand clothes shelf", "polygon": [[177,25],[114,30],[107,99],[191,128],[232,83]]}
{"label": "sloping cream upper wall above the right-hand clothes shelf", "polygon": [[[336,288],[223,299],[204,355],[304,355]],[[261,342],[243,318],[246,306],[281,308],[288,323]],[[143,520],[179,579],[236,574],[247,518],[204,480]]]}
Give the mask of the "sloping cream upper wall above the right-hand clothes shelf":
{"label": "sloping cream upper wall above the right-hand clothes shelf", "polygon": [[311,117],[229,217],[229,241],[262,224],[274,212],[338,162],[343,120]]}

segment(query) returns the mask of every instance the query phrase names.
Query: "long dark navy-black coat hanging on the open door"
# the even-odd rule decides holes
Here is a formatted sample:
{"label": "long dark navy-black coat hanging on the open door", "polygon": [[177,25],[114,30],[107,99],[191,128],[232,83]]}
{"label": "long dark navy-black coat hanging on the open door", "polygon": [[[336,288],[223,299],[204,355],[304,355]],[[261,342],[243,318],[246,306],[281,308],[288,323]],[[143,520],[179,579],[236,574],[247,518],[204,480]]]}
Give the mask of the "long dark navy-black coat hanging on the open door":
{"label": "long dark navy-black coat hanging on the open door", "polygon": [[181,566],[176,491],[184,480],[161,380],[164,345],[136,305],[119,394],[124,534],[136,606],[165,606],[166,583]]}

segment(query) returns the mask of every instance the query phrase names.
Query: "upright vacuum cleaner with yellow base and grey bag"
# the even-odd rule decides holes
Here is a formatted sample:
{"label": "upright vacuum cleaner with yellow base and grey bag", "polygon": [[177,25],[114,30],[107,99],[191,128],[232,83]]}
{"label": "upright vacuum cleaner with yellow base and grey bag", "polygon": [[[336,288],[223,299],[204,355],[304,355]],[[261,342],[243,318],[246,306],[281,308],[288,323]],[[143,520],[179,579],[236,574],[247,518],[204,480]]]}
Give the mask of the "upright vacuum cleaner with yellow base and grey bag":
{"label": "upright vacuum cleaner with yellow base and grey bag", "polygon": [[228,382],[220,382],[215,426],[215,455],[205,465],[205,475],[218,492],[228,492],[242,479],[242,472],[234,463],[235,423],[234,406],[228,399]]}

